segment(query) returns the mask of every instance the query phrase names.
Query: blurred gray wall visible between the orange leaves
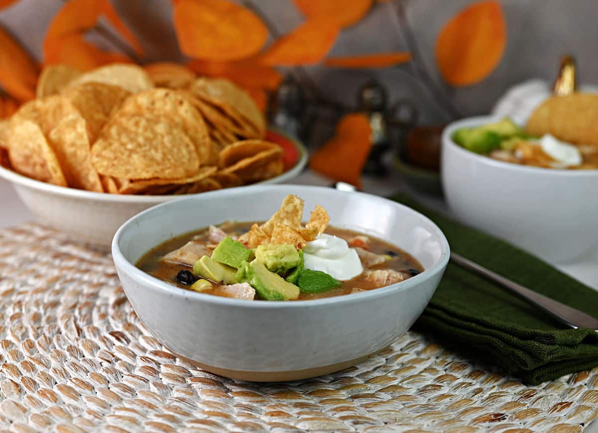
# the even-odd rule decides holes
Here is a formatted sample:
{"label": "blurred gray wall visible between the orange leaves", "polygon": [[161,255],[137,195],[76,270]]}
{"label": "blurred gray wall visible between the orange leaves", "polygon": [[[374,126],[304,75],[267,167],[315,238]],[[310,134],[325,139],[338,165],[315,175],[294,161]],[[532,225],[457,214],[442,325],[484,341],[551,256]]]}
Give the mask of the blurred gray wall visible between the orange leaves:
{"label": "blurred gray wall visible between the orange leaves", "polygon": [[[169,0],[112,0],[112,3],[144,44],[148,59],[181,59],[171,23]],[[254,3],[281,32],[290,31],[301,23],[301,14],[291,0],[254,0]],[[598,81],[596,0],[502,0],[507,17],[508,42],[500,65],[486,80],[474,86],[458,89],[446,86],[435,66],[435,39],[444,23],[469,3],[471,1],[467,0],[407,2],[408,22],[423,62],[462,116],[487,113],[496,98],[509,86],[527,78],[552,81],[563,53],[576,56],[582,82]],[[0,22],[30,52],[41,58],[45,28],[61,4],[60,0],[21,0],[0,13]],[[406,50],[393,8],[392,3],[375,3],[364,20],[343,31],[330,54]],[[97,40],[93,35],[91,38]],[[100,43],[105,44],[104,41]],[[370,77],[377,77],[388,87],[391,101],[406,97],[417,105],[421,113],[420,123],[450,120],[450,116],[438,107],[429,89],[414,77],[410,65],[375,71],[313,66],[307,71],[322,92],[344,104],[354,105],[358,86]]]}

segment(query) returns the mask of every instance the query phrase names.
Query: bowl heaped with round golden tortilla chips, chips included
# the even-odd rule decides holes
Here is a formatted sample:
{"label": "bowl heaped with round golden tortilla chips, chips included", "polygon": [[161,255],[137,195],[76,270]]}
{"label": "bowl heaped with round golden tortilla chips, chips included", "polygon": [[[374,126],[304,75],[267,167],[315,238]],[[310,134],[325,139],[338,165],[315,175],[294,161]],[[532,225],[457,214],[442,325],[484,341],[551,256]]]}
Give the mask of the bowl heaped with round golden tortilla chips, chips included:
{"label": "bowl heaped with round golden tortilla chips, chips included", "polygon": [[183,67],[47,66],[36,95],[0,123],[0,177],[42,222],[97,247],[152,205],[280,183],[307,162],[245,90]]}

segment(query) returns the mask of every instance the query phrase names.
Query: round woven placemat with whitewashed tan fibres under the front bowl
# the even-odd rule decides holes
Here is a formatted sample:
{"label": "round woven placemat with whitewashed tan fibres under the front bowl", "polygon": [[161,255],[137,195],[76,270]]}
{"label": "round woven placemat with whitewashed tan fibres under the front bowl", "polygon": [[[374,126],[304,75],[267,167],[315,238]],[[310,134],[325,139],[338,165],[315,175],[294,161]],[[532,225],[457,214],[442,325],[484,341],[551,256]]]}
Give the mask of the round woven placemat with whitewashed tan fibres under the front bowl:
{"label": "round woven placemat with whitewashed tan fibres under the front bowl", "polygon": [[0,365],[4,431],[576,432],[598,415],[598,369],[526,387],[411,331],[312,380],[197,370],[149,335],[109,255],[36,224],[0,231]]}

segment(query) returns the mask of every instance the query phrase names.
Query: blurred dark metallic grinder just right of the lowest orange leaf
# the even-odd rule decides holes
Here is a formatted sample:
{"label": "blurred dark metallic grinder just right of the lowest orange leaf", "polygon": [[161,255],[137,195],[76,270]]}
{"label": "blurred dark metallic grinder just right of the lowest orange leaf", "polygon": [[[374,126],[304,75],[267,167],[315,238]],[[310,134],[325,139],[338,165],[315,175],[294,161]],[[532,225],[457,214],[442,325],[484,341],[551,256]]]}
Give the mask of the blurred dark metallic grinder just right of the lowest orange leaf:
{"label": "blurred dark metallic grinder just right of the lowest orange leaf", "polygon": [[364,174],[384,176],[388,168],[382,158],[390,149],[388,126],[385,113],[387,110],[388,96],[386,89],[375,80],[368,81],[359,89],[359,110],[363,111],[370,119],[372,147],[370,155],[364,166]]}

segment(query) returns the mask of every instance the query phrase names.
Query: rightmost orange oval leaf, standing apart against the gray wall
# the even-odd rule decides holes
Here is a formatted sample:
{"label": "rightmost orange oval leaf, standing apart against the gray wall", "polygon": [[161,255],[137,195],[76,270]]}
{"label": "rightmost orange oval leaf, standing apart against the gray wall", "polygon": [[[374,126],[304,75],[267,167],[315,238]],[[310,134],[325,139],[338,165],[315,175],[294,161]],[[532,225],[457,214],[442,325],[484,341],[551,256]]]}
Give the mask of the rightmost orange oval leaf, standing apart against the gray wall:
{"label": "rightmost orange oval leaf, standing apart against the gray wall", "polygon": [[447,82],[468,86],[496,68],[506,43],[507,25],[499,2],[477,2],[444,26],[436,41],[436,62]]}

